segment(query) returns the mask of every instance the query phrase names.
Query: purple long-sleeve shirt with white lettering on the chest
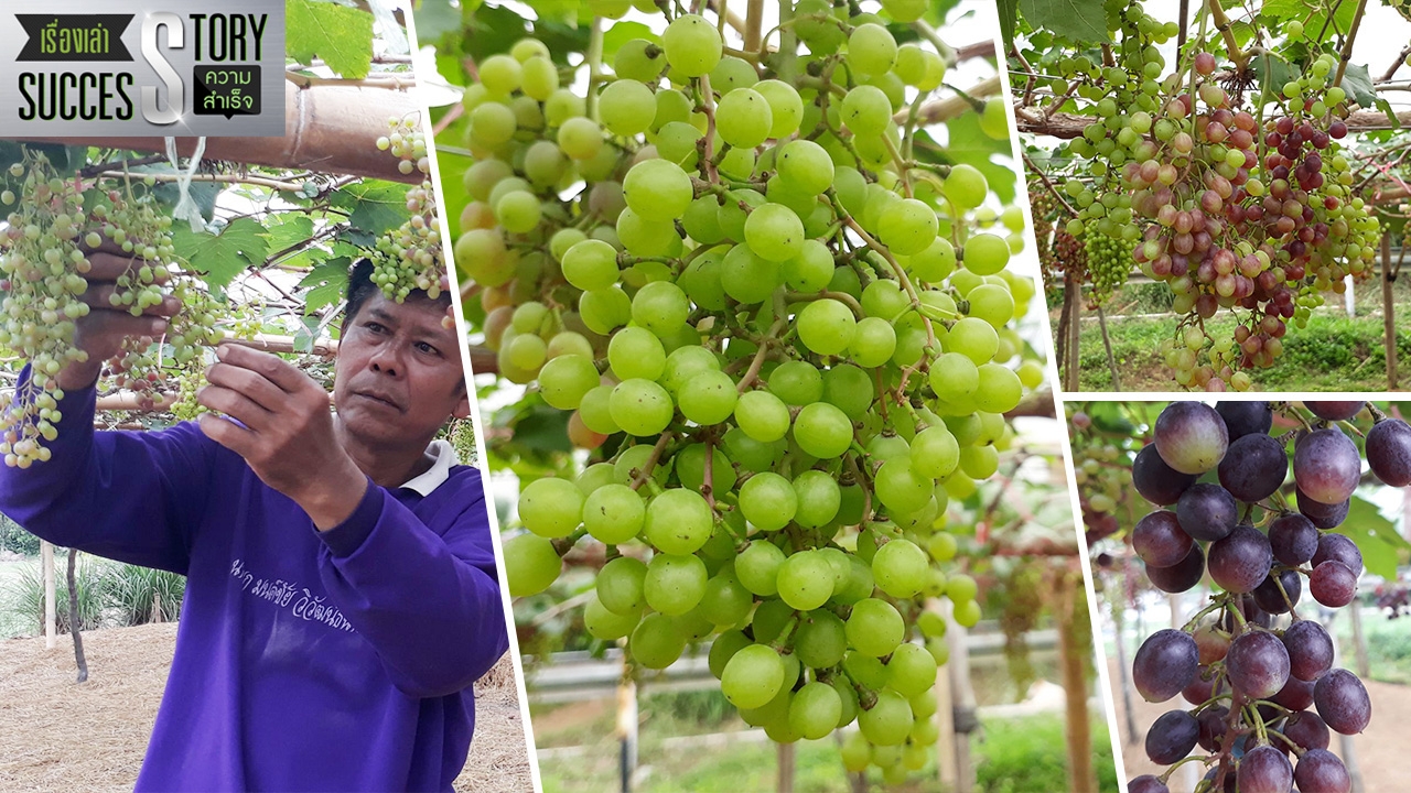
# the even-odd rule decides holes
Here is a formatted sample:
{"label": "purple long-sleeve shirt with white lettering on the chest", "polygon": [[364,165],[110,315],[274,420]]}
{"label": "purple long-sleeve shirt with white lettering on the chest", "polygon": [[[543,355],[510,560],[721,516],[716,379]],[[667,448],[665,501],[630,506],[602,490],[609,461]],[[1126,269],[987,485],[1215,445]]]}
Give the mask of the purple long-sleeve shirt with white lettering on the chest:
{"label": "purple long-sleeve shirt with white lettering on the chest", "polygon": [[61,409],[49,461],[0,466],[0,511],[188,577],[138,790],[452,789],[508,646],[476,468],[370,483],[320,533],[193,423],[96,433],[92,388]]}

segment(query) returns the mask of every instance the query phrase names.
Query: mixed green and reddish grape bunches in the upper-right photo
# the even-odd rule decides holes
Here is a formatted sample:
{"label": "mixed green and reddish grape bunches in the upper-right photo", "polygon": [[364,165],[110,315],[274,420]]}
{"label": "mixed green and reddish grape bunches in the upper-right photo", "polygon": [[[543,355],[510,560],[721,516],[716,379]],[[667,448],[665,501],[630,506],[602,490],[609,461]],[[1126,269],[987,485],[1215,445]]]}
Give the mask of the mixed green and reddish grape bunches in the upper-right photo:
{"label": "mixed green and reddish grape bunches in the upper-right photo", "polygon": [[[1064,185],[1079,210],[1068,230],[1086,234],[1089,258],[1095,240],[1099,250],[1110,240],[1130,247],[1123,261],[1120,248],[1102,267],[1089,261],[1096,301],[1133,262],[1171,286],[1185,316],[1161,351],[1177,382],[1249,388],[1245,371],[1274,363],[1287,322],[1304,325],[1345,275],[1369,272],[1376,253],[1379,222],[1355,193],[1339,143],[1350,107],[1329,85],[1336,56],[1309,55],[1294,79],[1246,102],[1247,71],[1222,69],[1192,41],[1165,73],[1160,45],[1177,25],[1139,4],[1105,7],[1119,32],[1113,62],[1053,63],[1057,85],[1071,82],[1096,114],[1068,144],[1086,168]],[[1236,339],[1205,330],[1221,308],[1239,319]]]}

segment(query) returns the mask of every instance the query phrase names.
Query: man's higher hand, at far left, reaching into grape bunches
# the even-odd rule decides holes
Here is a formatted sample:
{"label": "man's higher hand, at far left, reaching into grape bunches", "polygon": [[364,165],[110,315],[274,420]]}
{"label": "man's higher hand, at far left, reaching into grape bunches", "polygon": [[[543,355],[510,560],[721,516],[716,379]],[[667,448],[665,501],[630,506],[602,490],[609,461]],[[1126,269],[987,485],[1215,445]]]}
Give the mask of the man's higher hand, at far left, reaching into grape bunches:
{"label": "man's higher hand, at far left, reaching into grape bunches", "polygon": [[113,306],[117,279],[128,270],[135,271],[144,261],[123,253],[111,240],[103,240],[102,246],[89,251],[87,261],[92,265],[85,274],[87,289],[79,299],[87,303],[89,313],[73,323],[73,346],[89,357],[59,371],[59,388],[65,391],[92,385],[103,370],[103,361],[116,356],[126,339],[161,336],[166,332],[166,320],[181,310],[181,301],[171,295],[161,303],[148,306],[141,316],[133,316],[126,306]]}

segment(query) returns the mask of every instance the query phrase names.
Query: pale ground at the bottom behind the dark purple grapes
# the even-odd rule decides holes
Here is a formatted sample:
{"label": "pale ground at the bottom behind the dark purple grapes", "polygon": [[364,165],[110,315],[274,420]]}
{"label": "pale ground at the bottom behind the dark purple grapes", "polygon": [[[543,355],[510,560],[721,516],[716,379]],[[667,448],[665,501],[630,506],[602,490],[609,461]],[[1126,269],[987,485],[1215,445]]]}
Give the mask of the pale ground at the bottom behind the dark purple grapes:
{"label": "pale ground at the bottom behind the dark purple grapes", "polygon": [[[1116,662],[1108,665],[1109,676],[1116,683],[1119,680]],[[1405,722],[1411,718],[1411,686],[1397,686],[1379,680],[1364,680],[1367,694],[1371,697],[1371,725],[1362,735],[1353,738],[1353,749],[1357,758],[1357,768],[1362,770],[1363,793],[1403,793],[1407,789],[1405,772],[1401,765],[1405,761]],[[1158,766],[1147,759],[1141,748],[1146,730],[1158,715],[1173,707],[1187,707],[1185,700],[1180,703],[1147,703],[1141,697],[1132,694],[1133,715],[1136,718],[1139,735],[1127,735],[1126,711],[1122,697],[1116,697],[1118,732],[1122,735],[1122,761],[1126,766],[1127,777],[1143,773],[1161,773],[1167,766]],[[1342,755],[1338,735],[1333,734],[1332,752]],[[1197,763],[1191,763],[1197,765]],[[1189,793],[1189,787],[1182,787],[1178,780],[1184,779],[1178,770],[1171,777],[1171,793]]]}

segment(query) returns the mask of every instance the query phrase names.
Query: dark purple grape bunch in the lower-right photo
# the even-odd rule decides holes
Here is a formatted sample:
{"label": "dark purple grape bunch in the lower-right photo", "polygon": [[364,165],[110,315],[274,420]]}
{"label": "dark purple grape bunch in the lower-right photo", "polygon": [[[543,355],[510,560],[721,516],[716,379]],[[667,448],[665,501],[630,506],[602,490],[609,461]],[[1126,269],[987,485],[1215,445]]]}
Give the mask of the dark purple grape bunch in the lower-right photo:
{"label": "dark purple grape bunch in the lower-right photo", "polygon": [[[1204,762],[1211,790],[1350,790],[1342,761],[1326,751],[1329,730],[1362,732],[1371,703],[1356,676],[1332,667],[1332,638],[1298,604],[1305,591],[1326,608],[1356,595],[1362,553],[1331,529],[1348,516],[1362,476],[1357,444],[1339,423],[1363,405],[1305,402],[1308,416],[1285,406],[1304,429],[1278,437],[1268,435],[1267,402],[1173,402],[1157,418],[1132,484],[1160,508],[1136,523],[1132,547],[1157,588],[1187,591],[1209,573],[1218,590],[1182,629],[1149,636],[1133,660],[1147,701],[1180,694],[1194,706],[1151,725],[1153,762]],[[1411,483],[1411,426],[1367,408],[1371,473]],[[1290,467],[1294,508],[1281,492]],[[1197,481],[1208,471],[1218,483]],[[1206,755],[1192,755],[1197,745]],[[1129,789],[1165,793],[1170,773],[1139,776]]]}

